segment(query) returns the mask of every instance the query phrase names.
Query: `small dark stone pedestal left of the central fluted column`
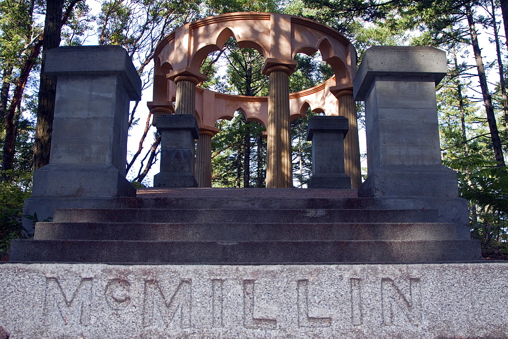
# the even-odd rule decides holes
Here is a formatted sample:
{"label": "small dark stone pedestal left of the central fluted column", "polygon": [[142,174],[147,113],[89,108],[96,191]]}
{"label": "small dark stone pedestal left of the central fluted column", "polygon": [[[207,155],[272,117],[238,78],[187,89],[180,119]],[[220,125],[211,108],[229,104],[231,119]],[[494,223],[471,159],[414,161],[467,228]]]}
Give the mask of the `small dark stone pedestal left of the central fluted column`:
{"label": "small dark stone pedestal left of the central fluted column", "polygon": [[154,187],[198,187],[194,177],[194,140],[199,138],[196,118],[191,115],[162,115],[157,118],[161,134],[161,172]]}

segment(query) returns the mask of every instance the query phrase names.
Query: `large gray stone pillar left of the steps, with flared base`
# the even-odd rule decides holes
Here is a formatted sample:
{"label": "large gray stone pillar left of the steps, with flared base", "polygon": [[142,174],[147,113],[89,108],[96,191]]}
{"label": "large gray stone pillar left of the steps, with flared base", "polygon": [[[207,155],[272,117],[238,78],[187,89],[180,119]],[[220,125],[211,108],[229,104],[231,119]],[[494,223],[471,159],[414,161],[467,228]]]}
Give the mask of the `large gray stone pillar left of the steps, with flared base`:
{"label": "large gray stone pillar left of the steps, with flared base", "polygon": [[50,163],[34,173],[32,197],[135,196],[125,179],[129,101],[141,79],[119,46],[48,51],[56,81]]}

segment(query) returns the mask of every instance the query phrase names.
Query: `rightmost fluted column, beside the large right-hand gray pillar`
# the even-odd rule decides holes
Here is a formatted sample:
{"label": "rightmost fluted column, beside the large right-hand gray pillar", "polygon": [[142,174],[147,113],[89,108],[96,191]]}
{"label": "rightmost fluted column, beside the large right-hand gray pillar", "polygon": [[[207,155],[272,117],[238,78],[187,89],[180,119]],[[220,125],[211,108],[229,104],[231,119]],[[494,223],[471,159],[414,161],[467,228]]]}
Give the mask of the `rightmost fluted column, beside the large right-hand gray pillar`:
{"label": "rightmost fluted column, beside the large right-hand gray pillar", "polygon": [[360,144],[358,141],[358,123],[356,120],[356,103],[353,88],[335,94],[339,101],[339,115],[349,121],[349,131],[344,138],[345,173],[351,177],[351,187],[358,188],[362,184],[360,165]]}

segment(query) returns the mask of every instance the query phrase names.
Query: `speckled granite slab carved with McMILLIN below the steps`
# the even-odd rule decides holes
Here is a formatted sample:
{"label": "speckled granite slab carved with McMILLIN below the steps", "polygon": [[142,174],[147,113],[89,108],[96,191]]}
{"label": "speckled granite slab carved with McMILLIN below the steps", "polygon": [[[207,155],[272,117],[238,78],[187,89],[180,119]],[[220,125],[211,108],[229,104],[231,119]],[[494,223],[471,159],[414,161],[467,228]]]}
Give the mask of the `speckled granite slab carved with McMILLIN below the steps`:
{"label": "speckled granite slab carved with McMILLIN below the steps", "polygon": [[506,337],[508,263],[1,264],[18,337]]}

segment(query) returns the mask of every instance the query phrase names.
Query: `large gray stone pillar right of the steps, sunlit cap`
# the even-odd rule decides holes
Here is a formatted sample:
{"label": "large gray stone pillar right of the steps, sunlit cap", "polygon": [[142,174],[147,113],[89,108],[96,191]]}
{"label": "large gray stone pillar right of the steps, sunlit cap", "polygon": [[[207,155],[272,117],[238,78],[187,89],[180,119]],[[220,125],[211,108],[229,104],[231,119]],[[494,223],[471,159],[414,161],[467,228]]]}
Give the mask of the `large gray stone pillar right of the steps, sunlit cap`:
{"label": "large gray stone pillar right of the steps, sunlit cap", "polygon": [[354,82],[367,133],[368,177],[359,196],[458,196],[439,148],[435,85],[446,72],[446,54],[435,48],[367,50]]}

